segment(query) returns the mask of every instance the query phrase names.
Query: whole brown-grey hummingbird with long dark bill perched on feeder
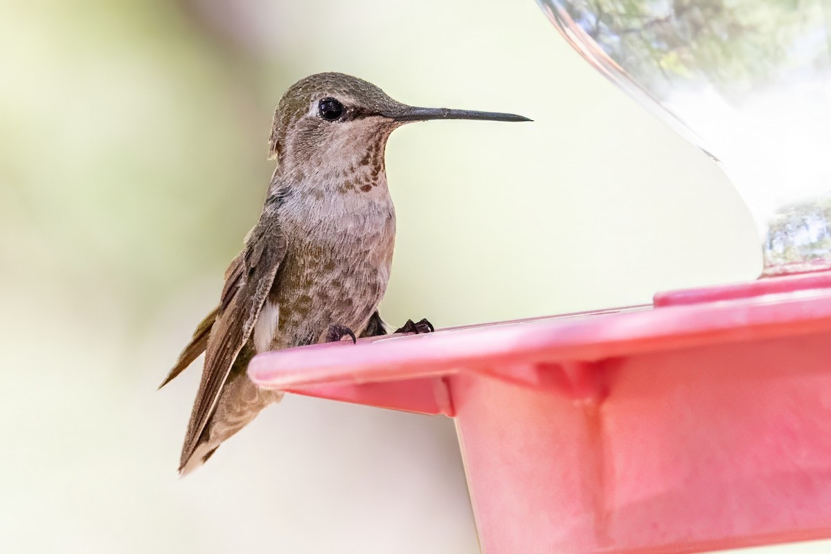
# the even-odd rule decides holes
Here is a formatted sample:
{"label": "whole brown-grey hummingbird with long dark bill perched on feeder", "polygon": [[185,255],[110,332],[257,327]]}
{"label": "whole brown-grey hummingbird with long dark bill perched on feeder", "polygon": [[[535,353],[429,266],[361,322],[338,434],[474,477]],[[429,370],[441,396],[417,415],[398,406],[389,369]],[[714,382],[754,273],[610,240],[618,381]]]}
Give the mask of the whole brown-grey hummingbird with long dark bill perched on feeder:
{"label": "whole brown-grey hummingbird with long dark bill perched on feeder", "polygon": [[[386,140],[401,125],[427,119],[530,121],[401,104],[342,73],[310,75],[285,92],[268,139],[277,167],[259,220],[225,272],[219,305],[199,323],[161,384],[205,353],[180,475],[204,464],[224,440],[282,398],[248,379],[254,355],[387,333],[377,310],[396,235]],[[426,319],[408,320],[396,333],[432,330]]]}

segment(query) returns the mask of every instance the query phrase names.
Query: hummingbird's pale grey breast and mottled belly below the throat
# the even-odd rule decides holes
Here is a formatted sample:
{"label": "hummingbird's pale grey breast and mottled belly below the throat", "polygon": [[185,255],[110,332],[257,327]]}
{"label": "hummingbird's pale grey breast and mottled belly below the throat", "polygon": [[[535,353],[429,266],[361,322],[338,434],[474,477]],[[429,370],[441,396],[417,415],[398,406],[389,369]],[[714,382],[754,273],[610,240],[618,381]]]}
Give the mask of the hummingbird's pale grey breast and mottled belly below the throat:
{"label": "hummingbird's pale grey breast and mottled belly below the throat", "polygon": [[281,219],[288,251],[263,309],[271,319],[254,331],[258,352],[269,334],[273,350],[317,343],[333,323],[366,327],[386,292],[396,224],[388,195],[360,200],[310,202]]}

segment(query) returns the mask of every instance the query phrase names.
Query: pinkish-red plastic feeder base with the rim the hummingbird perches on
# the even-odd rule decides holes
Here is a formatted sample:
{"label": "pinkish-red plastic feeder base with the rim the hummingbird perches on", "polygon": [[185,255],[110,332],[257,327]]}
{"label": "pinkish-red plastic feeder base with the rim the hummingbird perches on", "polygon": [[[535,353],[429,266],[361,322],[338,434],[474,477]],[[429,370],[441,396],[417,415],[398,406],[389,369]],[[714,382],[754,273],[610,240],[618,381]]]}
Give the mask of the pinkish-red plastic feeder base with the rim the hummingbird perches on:
{"label": "pinkish-red plastic feeder base with the rim the hummingbird perches on", "polygon": [[455,417],[485,554],[831,537],[831,273],[294,348],[260,386]]}

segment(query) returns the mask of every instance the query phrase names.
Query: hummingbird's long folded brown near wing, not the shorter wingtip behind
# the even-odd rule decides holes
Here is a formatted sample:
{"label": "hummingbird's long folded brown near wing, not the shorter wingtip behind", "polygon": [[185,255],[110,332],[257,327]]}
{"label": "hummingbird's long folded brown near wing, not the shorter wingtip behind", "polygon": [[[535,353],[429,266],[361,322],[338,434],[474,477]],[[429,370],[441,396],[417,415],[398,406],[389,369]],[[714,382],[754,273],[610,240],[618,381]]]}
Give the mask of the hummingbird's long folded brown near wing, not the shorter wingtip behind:
{"label": "hummingbird's long folded brown near wing, not the shorter wingtip behind", "polygon": [[286,242],[277,222],[260,220],[242,254],[225,273],[216,322],[205,352],[202,381],[184,437],[182,464],[193,454],[199,435],[214,412],[231,366],[251,336],[285,255]]}

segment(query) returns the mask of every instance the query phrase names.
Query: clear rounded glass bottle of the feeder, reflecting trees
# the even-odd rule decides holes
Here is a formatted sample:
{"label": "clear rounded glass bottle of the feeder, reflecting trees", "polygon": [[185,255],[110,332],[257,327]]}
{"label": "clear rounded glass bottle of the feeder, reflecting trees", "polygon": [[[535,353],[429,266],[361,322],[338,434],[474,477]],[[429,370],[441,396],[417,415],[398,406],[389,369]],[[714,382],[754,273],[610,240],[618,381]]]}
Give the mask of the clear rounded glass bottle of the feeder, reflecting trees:
{"label": "clear rounded glass bottle of the feeder, reflecting trees", "polygon": [[831,0],[538,2],[597,70],[724,162],[766,274],[831,266],[831,220],[806,215],[831,190]]}

